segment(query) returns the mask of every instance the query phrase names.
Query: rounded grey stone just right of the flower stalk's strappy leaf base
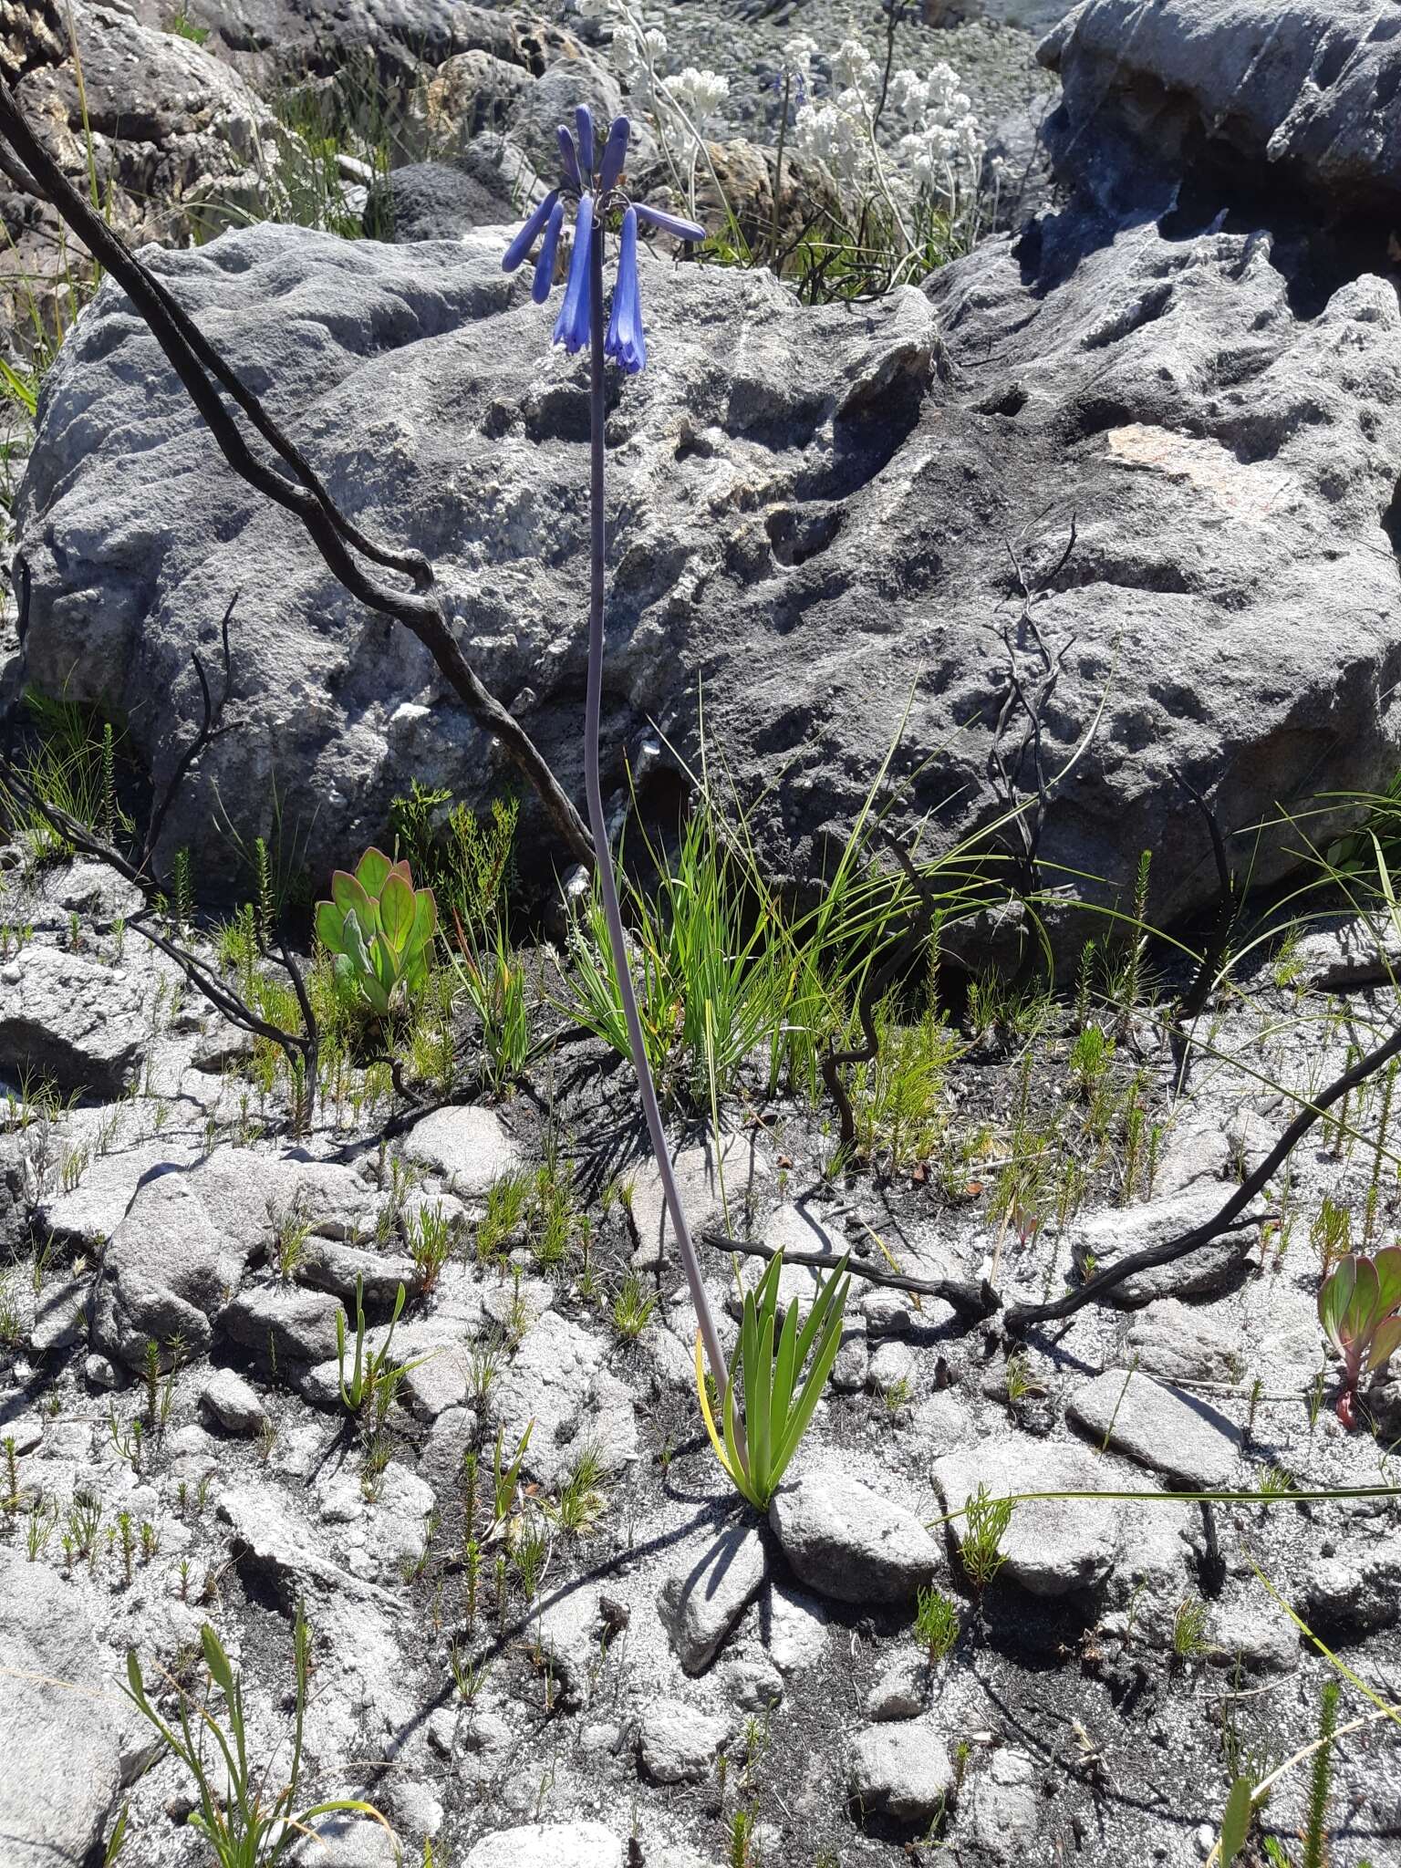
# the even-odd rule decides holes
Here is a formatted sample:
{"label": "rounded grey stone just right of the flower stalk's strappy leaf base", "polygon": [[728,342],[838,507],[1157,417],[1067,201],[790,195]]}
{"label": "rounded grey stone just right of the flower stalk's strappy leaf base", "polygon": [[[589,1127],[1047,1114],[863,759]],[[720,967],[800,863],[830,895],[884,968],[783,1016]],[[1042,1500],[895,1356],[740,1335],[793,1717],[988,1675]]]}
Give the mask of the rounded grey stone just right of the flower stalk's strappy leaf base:
{"label": "rounded grey stone just right of the flower stalk's strappy leaf base", "polygon": [[906,1603],[941,1567],[919,1519],[839,1472],[779,1487],[770,1524],[811,1590],[841,1603]]}

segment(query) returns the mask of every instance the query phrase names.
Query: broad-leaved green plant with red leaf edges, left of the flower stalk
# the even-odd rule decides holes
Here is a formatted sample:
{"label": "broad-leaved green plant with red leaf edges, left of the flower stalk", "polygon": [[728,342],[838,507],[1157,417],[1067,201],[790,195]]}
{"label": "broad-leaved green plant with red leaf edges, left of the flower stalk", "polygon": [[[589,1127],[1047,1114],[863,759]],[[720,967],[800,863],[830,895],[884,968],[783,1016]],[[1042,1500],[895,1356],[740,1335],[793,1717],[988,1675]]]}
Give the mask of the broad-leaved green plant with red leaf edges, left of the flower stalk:
{"label": "broad-leaved green plant with red leaf edges, left of the flower stalk", "polygon": [[407,863],[366,850],[355,874],[338,869],[331,900],[316,904],[316,932],[336,979],[387,1018],[428,981],[437,928],[432,889],[415,889]]}

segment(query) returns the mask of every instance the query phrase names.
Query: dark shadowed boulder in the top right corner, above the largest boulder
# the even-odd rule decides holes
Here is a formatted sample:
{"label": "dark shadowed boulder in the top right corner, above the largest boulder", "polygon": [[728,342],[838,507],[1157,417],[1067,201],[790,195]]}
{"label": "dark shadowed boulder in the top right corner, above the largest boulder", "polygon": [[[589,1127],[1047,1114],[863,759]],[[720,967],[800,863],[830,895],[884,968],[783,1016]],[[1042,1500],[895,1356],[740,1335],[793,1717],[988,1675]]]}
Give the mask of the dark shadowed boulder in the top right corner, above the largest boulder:
{"label": "dark shadowed boulder in the top right corner, above the largest boulder", "polygon": [[1231,168],[1332,213],[1401,202],[1395,0],[1085,0],[1039,58],[1065,86],[1052,148],[1102,196],[1168,205],[1184,170]]}

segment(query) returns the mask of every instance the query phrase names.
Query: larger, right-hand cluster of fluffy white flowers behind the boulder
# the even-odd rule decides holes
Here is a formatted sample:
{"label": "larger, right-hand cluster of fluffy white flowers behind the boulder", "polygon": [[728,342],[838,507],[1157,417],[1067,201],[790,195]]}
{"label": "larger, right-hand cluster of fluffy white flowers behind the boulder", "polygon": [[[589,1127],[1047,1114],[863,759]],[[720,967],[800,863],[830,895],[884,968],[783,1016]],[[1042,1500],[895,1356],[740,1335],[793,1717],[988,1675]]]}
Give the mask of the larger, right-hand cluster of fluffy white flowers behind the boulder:
{"label": "larger, right-hand cluster of fluffy white flowers behind the boulder", "polygon": [[899,129],[882,163],[876,148],[882,69],[859,39],[846,39],[831,62],[833,93],[811,92],[816,45],[807,35],[785,47],[785,65],[801,78],[805,99],[798,106],[792,136],[803,155],[824,161],[839,181],[874,187],[884,172],[902,194],[941,200],[962,196],[977,183],[983,166],[983,133],[973,105],[953,65],[940,62],[921,77],[908,67],[893,71],[885,90],[882,127]]}

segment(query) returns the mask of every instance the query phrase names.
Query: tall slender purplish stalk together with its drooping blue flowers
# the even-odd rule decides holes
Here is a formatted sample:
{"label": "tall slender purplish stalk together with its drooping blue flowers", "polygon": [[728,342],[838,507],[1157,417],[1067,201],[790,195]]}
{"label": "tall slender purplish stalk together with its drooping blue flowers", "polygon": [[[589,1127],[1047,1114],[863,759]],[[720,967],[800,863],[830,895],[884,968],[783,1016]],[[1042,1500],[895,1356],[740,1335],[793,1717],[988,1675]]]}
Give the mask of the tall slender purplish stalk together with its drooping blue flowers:
{"label": "tall slender purplish stalk together with its drooping blue flowers", "polygon": [[[648,220],[676,239],[700,241],[704,228],[656,207],[635,204],[622,187],[622,170],[628,157],[628,120],[616,118],[601,151],[594,136],[594,121],[583,106],[575,112],[575,134],[560,125],[560,187],[547,194],[527,224],[506,248],[502,265],[514,271],[525,260],[531,247],[544,235],[534,275],[534,299],[542,303],[549,295],[555,271],[555,239],[562,219],[564,200],[573,198],[573,252],[570,256],[570,275],[564,286],[564,304],[555,323],[555,342],[570,355],[588,346],[588,689],[585,697],[585,794],[588,801],[588,829],[598,854],[598,882],[603,900],[603,921],[607,925],[609,947],[613,949],[613,969],[618,979],[618,998],[622,1016],[628,1026],[633,1068],[637,1072],[637,1091],[643,1100],[646,1132],[652,1141],[652,1154],[661,1177],[661,1192],[667,1205],[667,1218],[676,1235],[686,1283],[695,1304],[710,1371],[715,1379],[721,1408],[727,1401],[729,1371],[725,1351],[721,1349],[715,1315],[706,1296],[700,1276],[700,1261],[695,1253],[691,1227],[686,1222],[682,1190],[667,1149],[667,1132],[661,1125],[661,1106],[656,1083],[646,1061],[643,1042],[643,1022],[637,1014],[637,992],[633,988],[631,966],[628,958],[628,940],[622,927],[622,904],[618,902],[618,884],[613,869],[613,850],[609,844],[607,820],[603,816],[603,788],[600,781],[600,740],[603,712],[603,613],[605,613],[605,551],[607,527],[603,512],[603,422],[605,422],[605,364],[613,359],[630,375],[635,375],[646,362],[646,344],[643,340],[641,295],[637,282],[637,222]],[[577,138],[577,140],[575,140]],[[598,161],[596,161],[598,157]],[[603,316],[603,239],[607,222],[622,219],[622,241],[618,248],[618,278],[613,290],[613,316],[605,323]],[[551,237],[553,230],[553,237]],[[742,1442],[743,1457],[743,1442]]]}

